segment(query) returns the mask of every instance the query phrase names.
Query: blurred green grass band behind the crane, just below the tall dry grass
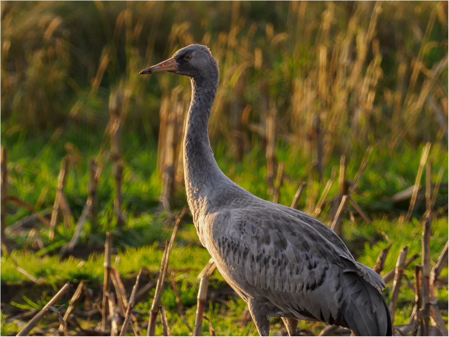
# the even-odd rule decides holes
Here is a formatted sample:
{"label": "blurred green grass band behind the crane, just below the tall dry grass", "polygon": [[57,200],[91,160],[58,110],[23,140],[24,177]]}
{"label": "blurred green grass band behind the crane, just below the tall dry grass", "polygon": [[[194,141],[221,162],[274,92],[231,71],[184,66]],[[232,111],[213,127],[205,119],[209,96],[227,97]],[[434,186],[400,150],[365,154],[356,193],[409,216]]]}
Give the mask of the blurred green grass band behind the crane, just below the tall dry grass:
{"label": "blurred green grass band behind the crane, just below the tall dry grass", "polygon": [[[2,124],[4,125],[4,124]],[[79,162],[72,166],[67,174],[64,191],[69,201],[71,210],[76,219],[79,218],[86,199],[88,175],[88,159],[100,150],[102,135],[93,136],[91,139],[80,140],[75,129],[68,130],[59,136],[57,142],[52,142],[42,137],[32,146],[17,135],[4,137],[5,145],[9,149],[9,189],[8,194],[20,197],[23,201],[36,205],[43,191],[45,194],[40,210],[51,210],[56,194],[57,176],[59,174],[60,162],[65,151],[64,144],[72,144],[72,148],[79,149]],[[52,150],[50,150],[50,148]],[[421,157],[422,146],[413,149],[406,144],[403,145],[402,159],[389,156],[384,150],[374,149],[370,156],[370,161],[364,175],[358,185],[354,200],[362,207],[368,215],[379,217],[386,214],[389,217],[404,213],[408,209],[406,202],[393,204],[389,197],[395,193],[414,184],[416,171],[418,170]],[[278,160],[286,162],[286,178],[281,188],[280,203],[290,206],[296,189],[303,179],[305,167],[308,164],[307,152],[298,149],[292,149],[287,144],[280,142],[277,148]],[[364,151],[355,153],[351,160],[348,160],[347,176],[353,179],[355,176]],[[132,133],[123,136],[123,212],[127,216],[128,222],[124,231],[115,237],[114,244],[121,247],[141,246],[151,244],[156,240],[164,240],[169,234],[162,230],[164,226],[163,216],[156,215],[158,211],[158,198],[161,190],[161,182],[156,171],[156,149],[154,144],[144,142],[142,139]],[[220,143],[215,149],[215,157],[220,168],[233,179],[237,184],[247,189],[251,193],[266,200],[271,200],[272,196],[268,194],[268,185],[265,177],[266,158],[260,151],[260,144],[255,143],[252,150],[243,158],[242,162],[234,162],[233,154]],[[440,167],[447,172],[448,154],[438,144],[431,148],[429,158],[432,160],[433,183],[436,182],[436,176]],[[313,191],[317,192],[317,199],[320,197],[327,179],[330,178],[332,166],[338,166],[337,158],[328,162],[323,171],[321,181],[315,180]],[[424,174],[425,175],[425,174]],[[425,176],[422,177],[422,184],[425,182]],[[337,180],[331,186],[328,193],[328,199],[338,193]],[[447,175],[443,175],[443,184],[447,184]],[[299,202],[299,209],[304,209],[308,191],[303,193]],[[115,230],[115,216],[113,211],[114,179],[112,177],[112,165],[108,161],[103,169],[98,186],[98,217],[97,223],[92,224],[89,221],[85,224],[81,235],[81,242],[84,244],[93,244],[104,242],[107,231]],[[440,188],[440,193],[436,199],[436,209],[447,203],[447,188]],[[176,205],[185,204],[184,188],[180,187],[176,193]],[[327,222],[329,206],[322,214],[320,219]],[[6,224],[16,223],[31,212],[20,207],[8,204],[8,216]],[[416,210],[415,216],[423,212],[423,204]],[[383,215],[381,215],[383,216]],[[57,239],[55,242],[48,241],[48,229],[40,226],[40,236],[45,251],[41,254],[49,253],[70,241],[74,227],[66,229],[61,223],[56,228]],[[165,234],[163,234],[165,233]],[[192,241],[194,236],[190,236]],[[11,237],[19,247],[26,246],[27,233]]]}

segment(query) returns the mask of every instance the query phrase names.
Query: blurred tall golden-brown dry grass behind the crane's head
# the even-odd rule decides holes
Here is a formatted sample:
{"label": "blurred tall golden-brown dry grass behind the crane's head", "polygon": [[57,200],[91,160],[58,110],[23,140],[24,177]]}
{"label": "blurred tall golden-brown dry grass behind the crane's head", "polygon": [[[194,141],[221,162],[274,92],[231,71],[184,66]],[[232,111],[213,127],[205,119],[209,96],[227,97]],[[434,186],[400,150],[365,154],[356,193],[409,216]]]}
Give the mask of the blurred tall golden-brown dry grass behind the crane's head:
{"label": "blurred tall golden-brown dry grass behind the crane's head", "polygon": [[445,2],[6,1],[1,20],[5,138],[102,132],[110,88],[124,82],[126,131],[156,142],[163,95],[181,85],[188,100],[189,81],[138,72],[200,43],[221,72],[214,146],[224,137],[235,146],[234,115],[249,105],[245,121],[258,122],[265,96],[297,147],[319,116],[326,159],[368,144],[447,142]]}

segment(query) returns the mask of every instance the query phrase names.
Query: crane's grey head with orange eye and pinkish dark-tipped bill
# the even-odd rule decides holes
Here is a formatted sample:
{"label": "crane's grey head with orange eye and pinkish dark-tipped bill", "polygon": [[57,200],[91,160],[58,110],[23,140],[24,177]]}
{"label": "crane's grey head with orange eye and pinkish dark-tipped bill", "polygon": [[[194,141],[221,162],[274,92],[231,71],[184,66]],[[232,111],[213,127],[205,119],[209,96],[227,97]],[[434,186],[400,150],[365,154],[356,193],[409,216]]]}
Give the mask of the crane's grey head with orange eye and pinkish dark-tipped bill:
{"label": "crane's grey head with orange eye and pinkish dark-tipped bill", "polygon": [[216,60],[206,46],[191,44],[179,49],[172,58],[142,70],[139,74],[154,74],[169,71],[189,77],[208,76],[213,68],[218,68]]}

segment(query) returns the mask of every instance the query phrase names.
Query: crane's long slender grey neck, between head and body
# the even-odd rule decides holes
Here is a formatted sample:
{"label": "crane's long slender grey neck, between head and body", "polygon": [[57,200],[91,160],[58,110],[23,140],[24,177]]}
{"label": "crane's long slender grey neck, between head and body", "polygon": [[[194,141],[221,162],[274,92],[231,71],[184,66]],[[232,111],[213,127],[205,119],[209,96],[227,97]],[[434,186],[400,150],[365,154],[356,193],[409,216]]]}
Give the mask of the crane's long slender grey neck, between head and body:
{"label": "crane's long slender grey neck, between head and body", "polygon": [[208,123],[218,88],[218,67],[208,76],[192,78],[192,101],[185,125],[184,178],[194,223],[207,212],[220,181],[227,179],[218,167],[208,136]]}

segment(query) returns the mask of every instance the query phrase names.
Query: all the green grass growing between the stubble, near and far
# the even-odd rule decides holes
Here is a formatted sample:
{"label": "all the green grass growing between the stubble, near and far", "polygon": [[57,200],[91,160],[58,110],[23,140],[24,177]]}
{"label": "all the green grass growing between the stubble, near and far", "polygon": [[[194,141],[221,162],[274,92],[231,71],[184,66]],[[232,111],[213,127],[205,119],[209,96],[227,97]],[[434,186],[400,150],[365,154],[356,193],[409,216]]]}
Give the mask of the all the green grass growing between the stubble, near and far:
{"label": "all the green grass growing between the stubble, near and far", "polygon": [[[87,198],[86,185],[88,182],[88,158],[93,156],[99,150],[101,136],[98,139],[91,140],[91,144],[86,144],[85,140],[77,140],[72,132],[67,132],[60,136],[60,141],[51,143],[55,151],[46,150],[48,139],[42,139],[41,143],[33,146],[27,146],[25,140],[8,139],[12,146],[9,150],[9,172],[11,176],[9,194],[17,195],[23,200],[35,205],[40,197],[41,191],[48,186],[47,196],[41,206],[41,210],[51,209],[55,196],[57,175],[61,156],[64,153],[63,144],[72,142],[75,147],[82,149],[82,159],[78,166],[70,169],[67,176],[65,192],[69,200],[75,219],[84,207]],[[112,167],[106,164],[99,185],[99,213],[97,224],[92,225],[89,221],[85,224],[80,242],[87,246],[103,245],[106,232],[114,232],[114,247],[118,248],[120,262],[118,270],[122,277],[135,274],[141,267],[158,271],[160,268],[160,259],[162,250],[157,248],[158,243],[163,244],[169,239],[172,233],[173,225],[165,218],[166,214],[158,214],[158,195],[161,184],[158,178],[156,168],[156,153],[154,144],[142,144],[141,138],[131,134],[123,137],[124,153],[124,179],[123,179],[123,209],[127,216],[127,225],[123,229],[115,227],[113,214],[114,180],[111,178]],[[78,143],[76,143],[78,141]],[[148,146],[150,149],[145,150]],[[61,149],[58,150],[57,148]],[[44,149],[44,150],[42,150]],[[151,150],[153,149],[153,150]],[[400,192],[404,188],[414,184],[415,172],[419,165],[422,147],[413,149],[404,145],[402,158],[410,164],[403,164],[399,158],[388,157],[387,153],[380,150],[373,150],[370,162],[358,186],[354,199],[359,205],[373,218],[373,226],[362,222],[356,214],[356,222],[352,223],[348,219],[343,220],[345,242],[352,253],[362,263],[372,266],[375,263],[380,250],[387,246],[387,242],[378,231],[384,231],[394,242],[387,261],[384,272],[389,271],[396,265],[396,258],[400,249],[408,244],[409,256],[421,252],[421,228],[415,230],[419,223],[412,219],[407,224],[397,224],[397,214],[405,212],[408,205],[392,204],[388,197]],[[268,185],[265,181],[266,159],[260,151],[260,145],[256,146],[243,158],[242,162],[233,162],[233,155],[225,146],[218,146],[215,149],[215,156],[220,168],[236,183],[251,193],[264,199],[271,199],[267,193]],[[58,154],[61,153],[61,154]],[[281,188],[280,203],[289,206],[293,199],[298,184],[304,176],[304,168],[308,161],[307,153],[299,150],[292,150],[286,144],[280,142],[277,148],[279,161],[286,162],[286,179]],[[347,175],[351,179],[361,162],[364,153],[361,151],[353,156],[348,162]],[[430,154],[433,159],[433,180],[435,183],[439,167],[447,169],[447,152],[438,146],[432,147]],[[315,180],[313,190],[318,191],[318,197],[330,177],[331,167],[339,165],[337,160],[328,162],[324,172],[323,179]],[[386,173],[383,173],[386,172]],[[307,179],[307,177],[305,177]],[[445,175],[444,182],[447,177]],[[425,178],[423,177],[423,182]],[[183,200],[183,191],[178,193],[178,201],[181,204]],[[330,188],[328,198],[338,193],[336,182]],[[307,190],[305,191],[299,203],[299,209],[305,207]],[[317,198],[318,198],[317,197]],[[447,190],[441,189],[437,199],[437,207],[447,202]],[[8,225],[15,223],[23,216],[30,214],[29,211],[15,206],[8,206],[8,216],[6,222]],[[420,216],[423,209],[418,208],[415,216]],[[327,223],[329,219],[329,206],[320,214],[319,218]],[[82,259],[66,258],[60,260],[55,255],[63,244],[70,241],[75,228],[68,230],[61,223],[56,228],[56,240],[52,243],[48,241],[48,229],[39,226],[39,235],[44,242],[45,249],[32,249],[28,244],[28,232],[18,236],[8,236],[9,240],[14,240],[16,250],[11,253],[18,265],[33,276],[40,279],[43,284],[51,284],[57,289],[66,281],[89,280],[89,287],[95,288],[100,285],[104,276],[103,259],[104,254],[101,251],[94,252],[84,262],[81,267],[79,263]],[[447,241],[448,221],[443,217],[436,219],[432,224],[431,252],[432,261],[435,261],[445,242]],[[413,235],[412,235],[413,234]],[[210,256],[206,249],[202,248],[198,241],[198,236],[191,218],[187,215],[176,237],[176,243],[170,256],[170,267],[176,271],[176,280],[178,282],[178,291],[181,300],[186,308],[186,317],[189,324],[193,326],[196,311],[196,295],[198,293],[198,273],[207,263]],[[112,261],[115,256],[112,256]],[[405,271],[405,274],[413,280],[413,268],[416,263],[420,263],[420,258],[415,260]],[[443,270],[441,276],[447,277],[447,267]],[[1,261],[1,284],[12,284],[22,280],[27,280],[14,267],[9,258],[2,258]],[[225,281],[218,271],[216,271],[210,280],[210,287],[220,289],[225,285]],[[392,284],[388,284],[386,293],[391,291]],[[150,295],[154,290],[150,292]],[[445,301],[448,298],[447,288],[439,289],[436,293],[439,300]],[[14,302],[16,306],[22,307],[40,307],[48,300],[48,294],[41,298],[18,298]],[[151,298],[151,297],[150,297]],[[167,308],[167,316],[172,333],[175,335],[185,335],[189,331],[185,324],[180,320],[176,312],[176,298],[172,291],[171,284],[167,283],[163,293],[163,303]],[[388,301],[388,300],[387,300]],[[412,309],[410,303],[414,301],[414,294],[403,283],[396,311],[395,324],[405,324],[409,319]],[[63,303],[62,303],[63,304]],[[146,313],[151,306],[151,300],[141,302],[136,309],[145,320]],[[257,331],[252,322],[245,328],[239,327],[239,322],[244,311],[245,304],[240,298],[229,298],[226,304],[215,303],[210,306],[206,315],[211,319],[212,324],[218,335],[256,335]],[[47,323],[51,322],[48,319]],[[15,329],[14,324],[2,324],[5,331]],[[44,327],[43,325],[42,327]],[[279,319],[273,319],[271,328],[281,329],[282,323]],[[319,333],[323,324],[312,324],[301,322],[300,327],[307,328]],[[156,333],[162,333],[162,327],[157,326]],[[208,325],[203,324],[203,334],[208,333]],[[159,331],[161,330],[161,331]],[[273,330],[273,331],[274,331]],[[17,331],[17,330],[16,330]]]}

